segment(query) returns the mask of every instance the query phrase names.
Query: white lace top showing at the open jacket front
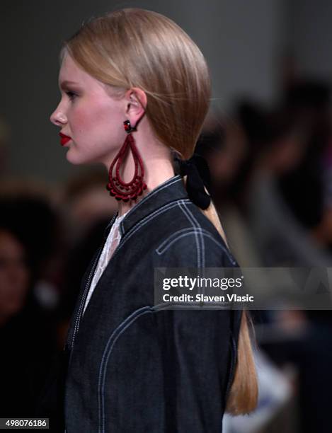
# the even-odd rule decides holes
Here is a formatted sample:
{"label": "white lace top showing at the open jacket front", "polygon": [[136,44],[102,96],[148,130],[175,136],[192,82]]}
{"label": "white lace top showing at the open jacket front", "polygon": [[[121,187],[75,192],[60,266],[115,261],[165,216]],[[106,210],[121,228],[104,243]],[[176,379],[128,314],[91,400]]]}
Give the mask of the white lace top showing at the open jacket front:
{"label": "white lace top showing at the open jacket front", "polygon": [[86,306],[88,306],[88,302],[91,299],[91,296],[93,294],[93,290],[95,289],[99,278],[103,274],[105,267],[108,265],[108,262],[110,261],[110,258],[112,257],[115,248],[119,245],[120,239],[121,239],[121,233],[119,230],[120,222],[122,219],[125,218],[125,215],[127,212],[121,217],[117,217],[113,223],[112,228],[110,229],[110,233],[108,233],[108,237],[106,239],[103,251],[101,252],[101,256],[98,260],[98,265],[96,267],[95,274],[93,275],[93,279],[91,282],[90,289],[88,290],[88,296],[86,296],[86,303],[84,305],[84,311],[86,311]]}

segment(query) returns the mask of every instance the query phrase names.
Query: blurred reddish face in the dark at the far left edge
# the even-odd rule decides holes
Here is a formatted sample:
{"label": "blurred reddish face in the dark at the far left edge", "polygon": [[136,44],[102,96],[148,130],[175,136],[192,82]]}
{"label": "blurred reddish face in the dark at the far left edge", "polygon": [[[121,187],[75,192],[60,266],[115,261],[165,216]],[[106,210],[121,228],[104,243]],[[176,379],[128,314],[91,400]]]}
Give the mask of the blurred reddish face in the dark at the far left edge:
{"label": "blurred reddish face in the dark at the far left edge", "polygon": [[23,246],[10,232],[0,229],[0,323],[23,308],[29,277]]}

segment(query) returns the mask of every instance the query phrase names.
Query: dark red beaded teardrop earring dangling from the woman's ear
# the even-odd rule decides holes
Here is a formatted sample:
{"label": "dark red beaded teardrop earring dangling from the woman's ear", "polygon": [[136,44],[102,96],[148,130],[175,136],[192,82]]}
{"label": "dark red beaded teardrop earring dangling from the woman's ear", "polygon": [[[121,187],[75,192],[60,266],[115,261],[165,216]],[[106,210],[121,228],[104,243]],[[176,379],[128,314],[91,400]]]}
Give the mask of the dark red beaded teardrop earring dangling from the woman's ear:
{"label": "dark red beaded teardrop earring dangling from the woman's ear", "polygon": [[[132,137],[132,131],[135,131],[136,128],[130,125],[129,120],[125,120],[123,125],[125,127],[125,131],[127,132],[127,137],[125,142],[122,144],[118,155],[115,156],[113,162],[110,165],[110,171],[108,172],[108,185],[106,188],[110,192],[110,195],[115,197],[116,200],[123,200],[124,202],[127,202],[128,200],[136,200],[139,195],[142,195],[142,192],[147,189],[147,184],[144,182],[143,161],[137,150],[134,137]],[[128,183],[125,183],[120,177],[120,166],[125,154],[127,154],[129,149],[132,150],[135,171],[132,180],[130,180]],[[113,174],[114,166],[115,173]]]}

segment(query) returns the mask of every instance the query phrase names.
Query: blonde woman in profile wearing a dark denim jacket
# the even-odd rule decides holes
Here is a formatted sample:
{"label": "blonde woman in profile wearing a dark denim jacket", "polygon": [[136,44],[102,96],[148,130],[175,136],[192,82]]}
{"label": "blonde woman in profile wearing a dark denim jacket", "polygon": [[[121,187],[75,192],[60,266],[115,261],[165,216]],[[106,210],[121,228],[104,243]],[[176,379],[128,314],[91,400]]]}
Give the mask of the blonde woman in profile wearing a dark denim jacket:
{"label": "blonde woman in profile wearing a dark denim jacket", "polygon": [[190,158],[205,59],[173,21],[134,8],[84,23],[61,59],[51,120],[67,160],[102,163],[118,200],[69,328],[66,431],[219,433],[225,409],[256,405],[246,316],[154,307],[155,267],[236,266]]}

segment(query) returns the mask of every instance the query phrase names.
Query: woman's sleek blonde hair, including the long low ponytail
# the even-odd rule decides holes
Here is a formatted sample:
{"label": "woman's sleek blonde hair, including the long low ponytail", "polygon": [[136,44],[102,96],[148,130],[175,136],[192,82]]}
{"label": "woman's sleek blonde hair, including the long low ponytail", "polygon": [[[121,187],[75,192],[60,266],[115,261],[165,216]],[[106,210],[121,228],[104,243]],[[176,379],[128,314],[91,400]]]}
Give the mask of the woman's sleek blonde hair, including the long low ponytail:
{"label": "woman's sleek blonde hair, including the long low ponytail", "polygon": [[[156,137],[183,158],[193,154],[210,105],[210,74],[202,52],[176,23],[156,12],[125,8],[84,23],[63,52],[119,94],[141,88]],[[214,205],[204,213],[224,237]],[[256,400],[256,370],[243,314],[227,410],[250,412]]]}

